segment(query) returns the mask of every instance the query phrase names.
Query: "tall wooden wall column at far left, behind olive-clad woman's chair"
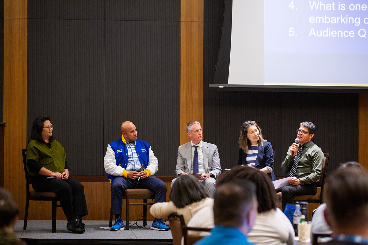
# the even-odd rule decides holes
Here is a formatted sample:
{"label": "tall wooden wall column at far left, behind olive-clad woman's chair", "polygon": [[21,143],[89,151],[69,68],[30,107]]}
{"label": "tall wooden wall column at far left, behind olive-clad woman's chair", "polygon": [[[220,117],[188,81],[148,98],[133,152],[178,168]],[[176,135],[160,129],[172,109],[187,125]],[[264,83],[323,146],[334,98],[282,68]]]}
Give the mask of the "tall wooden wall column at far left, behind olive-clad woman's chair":
{"label": "tall wooden wall column at far left, behind olive-clad woman's chair", "polygon": [[[27,1],[4,1],[4,188],[24,211],[21,149],[26,141]],[[22,215],[21,215],[22,217]]]}

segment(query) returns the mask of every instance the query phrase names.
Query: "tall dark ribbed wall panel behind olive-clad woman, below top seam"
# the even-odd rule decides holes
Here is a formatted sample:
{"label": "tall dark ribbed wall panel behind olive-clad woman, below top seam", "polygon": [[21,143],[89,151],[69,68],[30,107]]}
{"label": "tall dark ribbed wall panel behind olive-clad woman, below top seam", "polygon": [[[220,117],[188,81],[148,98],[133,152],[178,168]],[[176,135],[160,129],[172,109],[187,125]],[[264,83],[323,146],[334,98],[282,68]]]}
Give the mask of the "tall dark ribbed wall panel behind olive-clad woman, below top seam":
{"label": "tall dark ribbed wall panel behind olive-clad woman, below top seam", "polygon": [[28,136],[49,115],[70,174],[102,175],[103,21],[29,19],[28,30]]}

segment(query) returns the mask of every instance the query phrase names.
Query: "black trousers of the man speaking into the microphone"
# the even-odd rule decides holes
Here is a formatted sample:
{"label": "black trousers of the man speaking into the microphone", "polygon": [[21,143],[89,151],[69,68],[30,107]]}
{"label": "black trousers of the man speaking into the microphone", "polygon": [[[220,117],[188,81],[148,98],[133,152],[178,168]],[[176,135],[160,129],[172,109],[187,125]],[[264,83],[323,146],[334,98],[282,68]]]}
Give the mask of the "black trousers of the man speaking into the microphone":
{"label": "black trousers of the man speaking into the microphone", "polygon": [[276,192],[281,192],[282,210],[285,210],[287,203],[294,203],[294,196],[316,194],[317,184],[313,183],[309,185],[285,185],[283,187],[277,188]]}

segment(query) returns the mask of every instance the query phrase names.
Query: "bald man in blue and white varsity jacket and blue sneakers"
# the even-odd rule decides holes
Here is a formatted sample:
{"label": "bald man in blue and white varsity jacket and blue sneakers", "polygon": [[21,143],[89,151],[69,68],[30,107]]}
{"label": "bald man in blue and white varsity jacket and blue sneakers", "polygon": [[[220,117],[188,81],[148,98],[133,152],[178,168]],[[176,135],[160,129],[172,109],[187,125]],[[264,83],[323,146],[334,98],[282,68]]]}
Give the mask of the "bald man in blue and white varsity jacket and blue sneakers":
{"label": "bald man in blue and white varsity jacket and blue sneakers", "polygon": [[[132,122],[123,122],[121,125],[121,139],[107,146],[105,171],[111,184],[111,202],[115,224],[111,231],[124,230],[121,220],[123,208],[123,193],[126,189],[145,188],[155,192],[155,202],[166,201],[166,184],[152,176],[158,169],[158,160],[153,154],[151,145],[137,140],[137,128]],[[167,231],[162,219],[152,223],[152,230]]]}

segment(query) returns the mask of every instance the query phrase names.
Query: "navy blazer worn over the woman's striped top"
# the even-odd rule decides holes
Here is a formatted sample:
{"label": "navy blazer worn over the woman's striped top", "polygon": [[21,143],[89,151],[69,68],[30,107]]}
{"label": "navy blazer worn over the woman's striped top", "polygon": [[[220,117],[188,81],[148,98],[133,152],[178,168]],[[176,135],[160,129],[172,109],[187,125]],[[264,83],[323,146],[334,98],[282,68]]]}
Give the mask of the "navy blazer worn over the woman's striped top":
{"label": "navy blazer worn over the woman's striped top", "polygon": [[[247,154],[243,149],[239,149],[239,165],[247,165]],[[263,169],[263,167],[269,166],[273,169],[273,149],[272,145],[268,141],[263,141],[262,146],[258,146],[258,154],[255,161],[256,169]],[[273,171],[268,173],[268,176],[273,180],[276,180],[275,173]]]}

